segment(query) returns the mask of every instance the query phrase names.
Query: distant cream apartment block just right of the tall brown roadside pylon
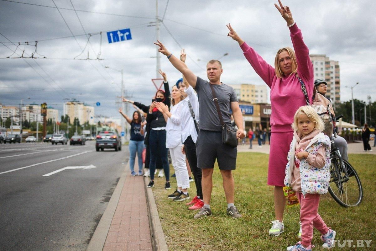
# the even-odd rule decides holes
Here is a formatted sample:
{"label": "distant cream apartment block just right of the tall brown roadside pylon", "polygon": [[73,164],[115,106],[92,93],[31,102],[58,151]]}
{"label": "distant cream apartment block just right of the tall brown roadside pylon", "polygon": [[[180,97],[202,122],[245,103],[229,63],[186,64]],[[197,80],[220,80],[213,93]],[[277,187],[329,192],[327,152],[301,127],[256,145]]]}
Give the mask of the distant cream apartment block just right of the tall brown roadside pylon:
{"label": "distant cream apartment block just right of the tall brown roadside pylon", "polygon": [[91,125],[94,124],[94,107],[77,100],[65,102],[63,114],[69,116],[70,123],[74,122],[74,118],[78,118],[81,125],[86,121],[89,121]]}

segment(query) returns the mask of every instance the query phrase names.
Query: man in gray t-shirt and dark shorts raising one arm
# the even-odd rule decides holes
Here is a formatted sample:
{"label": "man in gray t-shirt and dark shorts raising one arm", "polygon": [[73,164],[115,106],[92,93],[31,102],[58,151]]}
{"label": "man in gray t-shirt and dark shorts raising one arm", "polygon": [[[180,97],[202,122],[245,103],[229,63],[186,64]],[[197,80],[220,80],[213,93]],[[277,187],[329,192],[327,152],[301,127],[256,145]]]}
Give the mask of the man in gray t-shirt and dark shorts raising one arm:
{"label": "man in gray t-shirt and dark shorts raising one arm", "polygon": [[209,82],[194,75],[184,62],[170,53],[158,41],[158,51],[167,56],[171,64],[183,73],[188,83],[197,91],[200,103],[200,131],[196,141],[197,166],[202,169],[202,193],[204,206],[194,218],[211,215],[210,199],[212,191],[212,175],[214,163],[217,159],[223,178],[223,189],[227,201],[227,214],[233,218],[240,218],[241,214],[233,204],[235,184],[232,170],[235,170],[237,148],[232,148],[222,143],[221,126],[210,85],[214,87],[215,96],[218,98],[220,111],[224,123],[230,125],[230,109],[238,127],[237,137],[244,138],[243,115],[233,88],[222,84],[220,81],[223,73],[222,64],[218,60],[211,60],[206,65],[206,74]]}

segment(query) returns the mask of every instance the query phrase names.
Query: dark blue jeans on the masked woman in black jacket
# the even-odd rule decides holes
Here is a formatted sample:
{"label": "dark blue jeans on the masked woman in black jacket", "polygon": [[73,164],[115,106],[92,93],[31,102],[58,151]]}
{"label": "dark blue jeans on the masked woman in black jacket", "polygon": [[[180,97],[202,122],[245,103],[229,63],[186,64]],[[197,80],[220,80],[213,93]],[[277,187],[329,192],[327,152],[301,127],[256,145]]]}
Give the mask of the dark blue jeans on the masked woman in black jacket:
{"label": "dark blue jeans on the masked woman in black jacket", "polygon": [[166,181],[170,181],[170,165],[168,164],[167,148],[166,148],[166,130],[150,130],[149,137],[150,147],[150,180],[154,180],[154,172],[156,161],[159,154],[162,160],[162,167],[165,173]]}

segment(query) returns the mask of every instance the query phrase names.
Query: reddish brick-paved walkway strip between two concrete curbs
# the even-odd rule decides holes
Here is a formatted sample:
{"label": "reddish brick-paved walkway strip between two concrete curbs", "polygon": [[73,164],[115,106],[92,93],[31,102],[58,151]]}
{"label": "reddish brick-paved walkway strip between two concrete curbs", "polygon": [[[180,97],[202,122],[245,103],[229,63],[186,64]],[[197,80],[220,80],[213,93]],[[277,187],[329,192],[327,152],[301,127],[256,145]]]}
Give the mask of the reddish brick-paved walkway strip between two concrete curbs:
{"label": "reddish brick-paved walkway strip between two concrete curbs", "polygon": [[152,251],[144,186],[128,172],[103,251]]}

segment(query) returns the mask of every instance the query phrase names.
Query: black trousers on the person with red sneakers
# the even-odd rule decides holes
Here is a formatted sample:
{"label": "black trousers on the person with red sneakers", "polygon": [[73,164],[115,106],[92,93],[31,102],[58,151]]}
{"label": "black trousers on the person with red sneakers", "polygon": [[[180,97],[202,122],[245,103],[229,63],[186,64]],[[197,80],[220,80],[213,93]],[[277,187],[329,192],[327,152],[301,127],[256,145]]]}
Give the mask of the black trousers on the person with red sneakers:
{"label": "black trousers on the person with red sneakers", "polygon": [[200,196],[200,199],[203,199],[201,185],[202,170],[197,167],[196,144],[193,142],[191,136],[188,136],[188,138],[184,141],[184,148],[188,163],[194,176],[197,196]]}

